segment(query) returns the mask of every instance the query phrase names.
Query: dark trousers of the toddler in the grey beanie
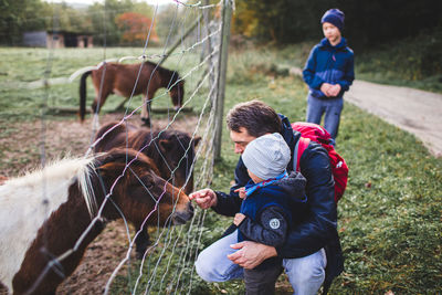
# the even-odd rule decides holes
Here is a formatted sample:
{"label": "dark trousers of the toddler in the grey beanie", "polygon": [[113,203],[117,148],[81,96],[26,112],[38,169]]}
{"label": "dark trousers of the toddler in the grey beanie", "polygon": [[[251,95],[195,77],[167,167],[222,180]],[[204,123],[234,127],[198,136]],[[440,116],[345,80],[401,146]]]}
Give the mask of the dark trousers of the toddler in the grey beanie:
{"label": "dark trousers of the toddler in the grey beanie", "polygon": [[281,264],[273,264],[267,267],[257,267],[254,270],[244,270],[245,294],[274,294],[275,283],[282,271],[283,267],[281,266]]}

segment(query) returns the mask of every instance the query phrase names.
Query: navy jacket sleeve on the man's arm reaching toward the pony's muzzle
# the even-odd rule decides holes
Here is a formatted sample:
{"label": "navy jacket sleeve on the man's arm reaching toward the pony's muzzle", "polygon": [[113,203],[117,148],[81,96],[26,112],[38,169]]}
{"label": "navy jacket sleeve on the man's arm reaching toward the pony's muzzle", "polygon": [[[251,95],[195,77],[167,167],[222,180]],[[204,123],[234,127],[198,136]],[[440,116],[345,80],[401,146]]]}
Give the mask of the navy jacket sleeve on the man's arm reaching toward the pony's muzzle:
{"label": "navy jacket sleeve on the man's arm reaching toward the pony's muzzle", "polygon": [[234,192],[234,190],[244,187],[250,180],[248,169],[245,168],[242,158],[238,161],[234,171],[234,180],[235,185],[230,188],[229,193],[215,191],[218,203],[215,207],[212,207],[212,209],[219,214],[234,217],[235,213],[240,212],[242,199],[238,192]]}

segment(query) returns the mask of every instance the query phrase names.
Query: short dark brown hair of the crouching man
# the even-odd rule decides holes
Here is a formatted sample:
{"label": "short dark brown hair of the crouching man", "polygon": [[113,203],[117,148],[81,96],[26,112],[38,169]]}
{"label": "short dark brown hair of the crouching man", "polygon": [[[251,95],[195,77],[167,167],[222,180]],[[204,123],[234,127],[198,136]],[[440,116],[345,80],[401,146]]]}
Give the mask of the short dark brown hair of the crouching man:
{"label": "short dark brown hair of the crouching man", "polygon": [[264,134],[281,133],[281,118],[276,112],[260,101],[235,105],[227,116],[229,129],[239,133],[244,127],[249,135],[260,137]]}

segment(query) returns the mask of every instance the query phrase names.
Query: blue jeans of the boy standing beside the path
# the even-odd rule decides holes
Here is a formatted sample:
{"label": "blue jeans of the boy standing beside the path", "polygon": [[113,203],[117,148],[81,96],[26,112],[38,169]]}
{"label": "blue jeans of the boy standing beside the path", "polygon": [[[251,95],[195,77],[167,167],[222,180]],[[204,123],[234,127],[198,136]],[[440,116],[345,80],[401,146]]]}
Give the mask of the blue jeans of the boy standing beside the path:
{"label": "blue jeans of the boy standing beside the path", "polygon": [[320,124],[320,118],[325,113],[324,128],[335,140],[338,136],[340,112],[344,107],[343,97],[339,98],[316,98],[308,94],[307,96],[307,122]]}

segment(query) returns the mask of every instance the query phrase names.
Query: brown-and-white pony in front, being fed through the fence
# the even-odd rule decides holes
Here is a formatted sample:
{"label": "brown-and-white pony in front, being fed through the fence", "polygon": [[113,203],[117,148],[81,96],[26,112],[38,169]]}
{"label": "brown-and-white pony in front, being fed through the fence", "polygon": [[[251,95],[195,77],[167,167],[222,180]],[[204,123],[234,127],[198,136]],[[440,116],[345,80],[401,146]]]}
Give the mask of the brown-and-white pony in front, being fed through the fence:
{"label": "brown-and-white pony in front, being fed through the fence", "polygon": [[0,282],[13,294],[55,294],[106,221],[190,220],[189,198],[157,173],[148,157],[120,148],[7,180],[0,186]]}

